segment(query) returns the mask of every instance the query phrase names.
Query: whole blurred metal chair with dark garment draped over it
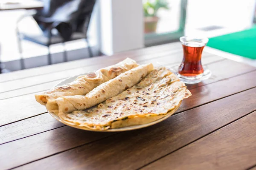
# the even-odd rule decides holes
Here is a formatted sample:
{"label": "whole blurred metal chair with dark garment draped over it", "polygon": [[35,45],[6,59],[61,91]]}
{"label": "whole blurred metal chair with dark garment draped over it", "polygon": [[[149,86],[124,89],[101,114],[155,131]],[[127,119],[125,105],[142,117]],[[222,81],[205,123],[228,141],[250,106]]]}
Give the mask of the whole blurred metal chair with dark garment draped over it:
{"label": "whole blurred metal chair with dark garment draped over it", "polygon": [[[21,40],[29,40],[48,47],[48,64],[52,64],[49,46],[71,40],[85,39],[90,57],[92,50],[87,40],[87,29],[93,11],[95,0],[41,0],[44,9],[32,14],[38,26],[43,31],[40,35],[20,32],[17,24],[18,48],[21,58],[21,69],[25,69],[22,56]],[[19,23],[26,14],[17,21]],[[56,31],[57,30],[57,31]],[[55,33],[53,32],[55,31]],[[57,32],[57,33],[56,33]],[[67,52],[64,46],[64,62],[67,62]]]}

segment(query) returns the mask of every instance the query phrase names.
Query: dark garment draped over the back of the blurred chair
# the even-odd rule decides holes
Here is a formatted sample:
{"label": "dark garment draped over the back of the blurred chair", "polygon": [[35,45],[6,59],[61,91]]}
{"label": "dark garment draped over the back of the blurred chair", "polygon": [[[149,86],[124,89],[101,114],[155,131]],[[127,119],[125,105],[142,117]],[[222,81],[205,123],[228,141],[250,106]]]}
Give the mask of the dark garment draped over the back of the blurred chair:
{"label": "dark garment draped over the back of the blurred chair", "polygon": [[87,35],[95,0],[40,0],[44,8],[34,18],[43,31],[56,28],[61,37],[68,41],[73,32]]}

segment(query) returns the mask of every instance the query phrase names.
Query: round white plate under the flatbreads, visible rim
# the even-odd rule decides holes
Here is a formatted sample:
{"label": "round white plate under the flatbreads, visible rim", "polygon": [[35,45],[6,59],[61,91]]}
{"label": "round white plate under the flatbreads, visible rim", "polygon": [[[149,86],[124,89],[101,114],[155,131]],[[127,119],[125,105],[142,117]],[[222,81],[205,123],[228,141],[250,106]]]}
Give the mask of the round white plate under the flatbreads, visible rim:
{"label": "round white plate under the flatbreads, visible rim", "polygon": [[[90,73],[93,73],[93,72],[88,72],[86,74],[90,74]],[[73,76],[73,77],[69,77],[67,79],[64,79],[63,81],[59,82],[57,85],[55,85],[54,87],[56,86],[59,86],[59,85],[64,85],[64,84],[67,84],[67,83],[70,83],[70,82],[73,82],[78,76],[81,76],[81,75],[86,75],[86,74],[79,74],[79,75],[76,75],[76,76]],[[71,127],[75,127],[75,128],[78,128],[78,129],[82,129],[82,130],[89,130],[89,131],[99,131],[99,132],[120,132],[120,131],[128,131],[128,130],[135,130],[135,129],[140,129],[140,128],[143,128],[143,127],[148,127],[148,126],[151,126],[151,125],[154,125],[154,124],[157,124],[159,122],[162,122],[163,120],[169,118],[170,116],[172,116],[173,113],[175,113],[175,111],[177,111],[177,109],[180,107],[180,104],[181,104],[181,101],[179,103],[179,105],[177,105],[177,107],[168,112],[166,114],[166,116],[160,118],[160,119],[157,119],[155,120],[154,122],[150,122],[148,124],[143,124],[143,125],[133,125],[133,126],[128,126],[128,127],[121,127],[121,128],[117,128],[117,129],[108,129],[108,130],[93,130],[93,129],[89,129],[87,127],[77,127],[77,126],[72,126],[72,125],[69,125],[65,122],[63,122],[55,113],[52,113],[52,112],[49,112],[50,115],[52,115],[52,117],[54,117],[56,120],[58,120],[59,122],[65,124],[65,125],[68,125],[68,126],[71,126]]]}

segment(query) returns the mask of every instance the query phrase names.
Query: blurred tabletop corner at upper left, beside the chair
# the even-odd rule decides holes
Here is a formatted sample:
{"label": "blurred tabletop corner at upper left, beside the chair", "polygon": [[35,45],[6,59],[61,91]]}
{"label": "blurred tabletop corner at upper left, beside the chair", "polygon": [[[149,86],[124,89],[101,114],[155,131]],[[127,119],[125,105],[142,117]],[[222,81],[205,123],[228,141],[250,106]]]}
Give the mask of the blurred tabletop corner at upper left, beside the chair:
{"label": "blurred tabletop corner at upper left, beside the chair", "polygon": [[44,3],[36,0],[29,0],[20,3],[0,3],[0,11],[14,10],[14,9],[42,9]]}

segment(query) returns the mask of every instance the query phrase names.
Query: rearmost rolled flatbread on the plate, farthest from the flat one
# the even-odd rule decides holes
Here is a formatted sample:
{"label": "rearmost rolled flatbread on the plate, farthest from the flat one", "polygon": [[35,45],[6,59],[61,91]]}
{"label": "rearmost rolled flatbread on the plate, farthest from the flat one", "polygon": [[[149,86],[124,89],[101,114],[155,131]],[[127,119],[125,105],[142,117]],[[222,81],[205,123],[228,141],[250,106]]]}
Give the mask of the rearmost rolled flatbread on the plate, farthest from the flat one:
{"label": "rearmost rolled flatbread on the plate, farthest from the flat one", "polygon": [[116,65],[99,69],[92,74],[79,76],[71,83],[52,88],[42,94],[36,94],[35,99],[41,105],[46,105],[48,99],[57,99],[61,96],[85,95],[98,85],[137,66],[138,64],[133,59],[127,58]]}

